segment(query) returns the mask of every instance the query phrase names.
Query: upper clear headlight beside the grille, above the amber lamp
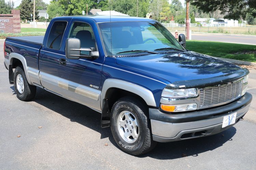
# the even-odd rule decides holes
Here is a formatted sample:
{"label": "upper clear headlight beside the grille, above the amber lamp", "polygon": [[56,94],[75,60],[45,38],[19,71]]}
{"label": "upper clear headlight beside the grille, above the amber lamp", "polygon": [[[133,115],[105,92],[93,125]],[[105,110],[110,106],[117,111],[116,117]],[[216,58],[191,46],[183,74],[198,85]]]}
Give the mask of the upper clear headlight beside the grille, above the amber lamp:
{"label": "upper clear headlight beside the grille, above the amber lamp", "polygon": [[163,89],[162,97],[166,98],[184,98],[184,97],[196,97],[197,89]]}

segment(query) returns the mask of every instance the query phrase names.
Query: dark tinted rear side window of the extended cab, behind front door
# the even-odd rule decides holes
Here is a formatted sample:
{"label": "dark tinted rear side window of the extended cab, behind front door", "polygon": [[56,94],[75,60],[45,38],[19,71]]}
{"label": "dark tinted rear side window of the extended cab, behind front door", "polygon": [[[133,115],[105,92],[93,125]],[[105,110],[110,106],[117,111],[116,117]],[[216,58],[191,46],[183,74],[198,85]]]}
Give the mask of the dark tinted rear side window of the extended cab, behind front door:
{"label": "dark tinted rear side window of the extended cab, behind front door", "polygon": [[47,48],[60,49],[61,40],[67,26],[67,21],[55,21],[47,39]]}

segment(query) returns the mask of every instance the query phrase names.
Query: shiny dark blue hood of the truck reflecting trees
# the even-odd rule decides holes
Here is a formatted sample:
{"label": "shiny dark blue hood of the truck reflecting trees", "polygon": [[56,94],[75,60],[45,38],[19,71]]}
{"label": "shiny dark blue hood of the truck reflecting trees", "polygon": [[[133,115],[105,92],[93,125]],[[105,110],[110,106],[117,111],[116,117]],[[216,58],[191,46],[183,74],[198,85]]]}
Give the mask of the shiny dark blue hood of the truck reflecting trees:
{"label": "shiny dark blue hood of the truck reflecting trees", "polygon": [[241,67],[219,58],[192,51],[139,57],[117,57],[116,63],[155,75],[170,83],[212,78],[241,69]]}

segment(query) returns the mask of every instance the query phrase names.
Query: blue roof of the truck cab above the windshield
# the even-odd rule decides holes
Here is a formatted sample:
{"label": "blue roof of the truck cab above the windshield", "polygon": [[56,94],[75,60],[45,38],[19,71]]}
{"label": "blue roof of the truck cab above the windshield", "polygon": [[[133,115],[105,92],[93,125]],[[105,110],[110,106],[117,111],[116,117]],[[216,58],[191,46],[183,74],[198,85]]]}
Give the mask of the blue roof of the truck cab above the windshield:
{"label": "blue roof of the truck cab above the windshield", "polygon": [[[111,15],[91,15],[91,16],[85,16],[85,15],[81,15],[81,16],[64,16],[65,17],[71,17],[71,18],[76,18],[76,17],[85,17],[85,18],[91,18],[93,20],[95,20],[95,22],[99,23],[99,22],[110,22],[110,18],[111,18],[111,22],[117,22],[117,21],[155,21],[153,19],[148,19],[148,18],[141,18],[141,17],[130,17],[130,16],[113,16]],[[63,18],[63,17],[57,17],[57,18]]]}

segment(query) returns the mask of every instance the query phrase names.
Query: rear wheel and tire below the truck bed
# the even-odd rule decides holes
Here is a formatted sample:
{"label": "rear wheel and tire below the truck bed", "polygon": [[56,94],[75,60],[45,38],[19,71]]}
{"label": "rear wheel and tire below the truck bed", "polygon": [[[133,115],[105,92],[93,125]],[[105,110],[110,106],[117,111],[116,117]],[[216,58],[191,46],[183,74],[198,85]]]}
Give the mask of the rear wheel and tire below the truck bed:
{"label": "rear wheel and tire below the truck bed", "polygon": [[26,74],[19,66],[14,71],[14,88],[17,98],[22,101],[33,99],[37,90],[37,87],[28,84]]}

